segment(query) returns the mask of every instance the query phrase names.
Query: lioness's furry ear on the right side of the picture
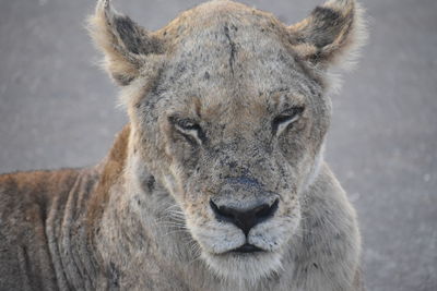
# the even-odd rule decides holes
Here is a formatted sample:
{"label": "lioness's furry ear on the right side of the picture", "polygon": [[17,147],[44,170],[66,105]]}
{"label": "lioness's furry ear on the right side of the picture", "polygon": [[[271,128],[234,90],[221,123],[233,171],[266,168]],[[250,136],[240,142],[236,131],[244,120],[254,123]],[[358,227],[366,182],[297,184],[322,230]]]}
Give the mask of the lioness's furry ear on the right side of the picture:
{"label": "lioness's furry ear on the right side of the picture", "polygon": [[322,69],[353,62],[367,38],[363,10],[355,0],[330,0],[288,29],[297,54]]}

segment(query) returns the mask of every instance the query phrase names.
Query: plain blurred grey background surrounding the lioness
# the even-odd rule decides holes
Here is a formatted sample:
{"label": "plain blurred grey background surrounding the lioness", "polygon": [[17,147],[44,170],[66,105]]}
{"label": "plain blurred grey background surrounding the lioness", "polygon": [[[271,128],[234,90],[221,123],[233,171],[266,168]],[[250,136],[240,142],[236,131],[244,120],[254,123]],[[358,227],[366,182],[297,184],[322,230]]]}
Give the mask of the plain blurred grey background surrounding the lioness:
{"label": "plain blurred grey background surrounding the lioness", "polygon": [[[201,1],[118,0],[150,29]],[[322,0],[244,2],[292,24]],[[437,1],[362,0],[370,39],[333,96],[327,159],[374,291],[437,290]],[[0,172],[93,165],[127,122],[84,29],[93,0],[0,0]]]}

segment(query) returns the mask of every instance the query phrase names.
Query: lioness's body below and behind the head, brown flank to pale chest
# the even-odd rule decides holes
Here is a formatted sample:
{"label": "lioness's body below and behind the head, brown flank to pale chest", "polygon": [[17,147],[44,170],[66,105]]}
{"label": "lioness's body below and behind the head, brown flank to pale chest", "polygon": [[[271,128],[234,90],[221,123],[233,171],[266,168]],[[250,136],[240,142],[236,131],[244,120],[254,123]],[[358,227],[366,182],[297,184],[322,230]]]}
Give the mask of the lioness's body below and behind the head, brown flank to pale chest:
{"label": "lioness's body below and behind the head, brown flank to pale chest", "polygon": [[[111,178],[103,186],[110,193],[130,189],[122,182],[129,181],[122,177],[128,131],[96,168],[0,177],[2,290],[252,288],[213,276],[191,250],[189,233],[165,223],[175,202],[162,185],[154,182],[144,193],[151,197],[144,202],[151,211],[146,220],[138,219],[123,196],[103,197],[104,178]],[[302,198],[306,219],[288,245],[283,269],[253,290],[342,290],[332,278],[350,272],[341,264],[345,250],[351,258],[359,253],[355,213],[327,165]],[[90,222],[96,214],[101,218]],[[102,233],[108,226],[111,233]],[[361,290],[358,269],[351,290]]]}

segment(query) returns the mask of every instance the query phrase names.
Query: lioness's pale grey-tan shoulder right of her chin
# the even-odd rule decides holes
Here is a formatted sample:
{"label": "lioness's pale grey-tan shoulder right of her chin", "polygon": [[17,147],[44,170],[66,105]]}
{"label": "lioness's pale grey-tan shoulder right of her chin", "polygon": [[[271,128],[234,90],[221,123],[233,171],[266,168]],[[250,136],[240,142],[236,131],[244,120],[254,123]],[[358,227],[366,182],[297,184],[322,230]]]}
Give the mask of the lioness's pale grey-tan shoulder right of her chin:
{"label": "lioness's pale grey-tan shoulder right of her chin", "polygon": [[[361,235],[356,214],[328,165],[304,193],[302,208],[297,262],[304,290],[344,290],[340,286],[357,284]],[[327,275],[340,284],[322,287]]]}

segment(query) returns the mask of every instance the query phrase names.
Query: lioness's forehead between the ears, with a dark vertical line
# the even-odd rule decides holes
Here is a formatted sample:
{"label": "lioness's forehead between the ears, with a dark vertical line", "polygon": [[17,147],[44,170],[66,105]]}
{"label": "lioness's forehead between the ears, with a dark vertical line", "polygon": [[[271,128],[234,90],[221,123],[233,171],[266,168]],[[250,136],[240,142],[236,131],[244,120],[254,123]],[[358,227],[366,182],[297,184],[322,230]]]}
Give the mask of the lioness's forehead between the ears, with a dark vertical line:
{"label": "lioness's forehead between the ears, with a dark vertical line", "polygon": [[272,15],[214,1],[182,14],[161,92],[202,108],[269,102],[277,92],[308,95],[314,80],[295,59],[286,27]]}

